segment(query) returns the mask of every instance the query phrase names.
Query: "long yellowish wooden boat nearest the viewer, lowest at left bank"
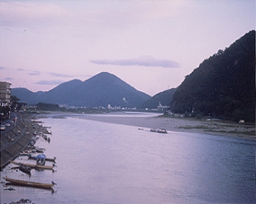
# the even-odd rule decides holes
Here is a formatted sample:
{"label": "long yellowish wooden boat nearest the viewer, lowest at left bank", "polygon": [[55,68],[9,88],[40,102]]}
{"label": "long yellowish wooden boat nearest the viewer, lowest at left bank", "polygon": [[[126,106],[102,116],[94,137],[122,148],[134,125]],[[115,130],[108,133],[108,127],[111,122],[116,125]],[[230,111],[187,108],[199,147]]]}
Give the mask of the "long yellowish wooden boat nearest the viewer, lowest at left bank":
{"label": "long yellowish wooden boat nearest the viewer, lowest at left bank", "polygon": [[52,189],[52,187],[54,186],[54,182],[52,182],[51,184],[44,184],[44,183],[39,183],[39,182],[32,182],[32,181],[23,181],[23,180],[18,180],[18,179],[14,179],[14,178],[5,178],[6,181],[10,182],[13,185],[19,185],[19,186],[27,186],[27,187],[38,187],[38,188],[44,188],[44,189]]}

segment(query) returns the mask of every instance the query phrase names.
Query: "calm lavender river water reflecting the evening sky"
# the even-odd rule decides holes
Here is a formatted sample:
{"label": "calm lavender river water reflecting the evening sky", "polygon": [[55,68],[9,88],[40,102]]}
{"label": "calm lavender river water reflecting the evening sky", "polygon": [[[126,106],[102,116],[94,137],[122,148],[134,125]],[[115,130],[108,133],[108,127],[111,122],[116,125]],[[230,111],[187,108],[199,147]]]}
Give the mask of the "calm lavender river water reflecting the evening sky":
{"label": "calm lavender river water reflecting the evening sky", "polygon": [[[86,115],[43,120],[53,134],[50,143],[39,139],[36,145],[46,148],[47,157],[56,157],[56,172],[32,170],[29,178],[9,164],[1,181],[6,175],[54,181],[55,192],[29,187],[4,190],[1,184],[1,203],[22,198],[35,203],[255,202],[255,142],[196,133],[159,134],[87,120]],[[35,162],[26,157],[16,160]]]}

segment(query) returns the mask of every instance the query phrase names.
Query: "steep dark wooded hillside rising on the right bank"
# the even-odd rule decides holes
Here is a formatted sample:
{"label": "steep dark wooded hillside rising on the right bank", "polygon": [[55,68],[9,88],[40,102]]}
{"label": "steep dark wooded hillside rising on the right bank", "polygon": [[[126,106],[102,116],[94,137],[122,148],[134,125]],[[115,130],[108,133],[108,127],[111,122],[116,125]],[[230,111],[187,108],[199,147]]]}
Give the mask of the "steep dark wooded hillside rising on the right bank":
{"label": "steep dark wooded hillside rising on the right bank", "polygon": [[255,121],[255,31],[187,75],[172,97],[171,110]]}

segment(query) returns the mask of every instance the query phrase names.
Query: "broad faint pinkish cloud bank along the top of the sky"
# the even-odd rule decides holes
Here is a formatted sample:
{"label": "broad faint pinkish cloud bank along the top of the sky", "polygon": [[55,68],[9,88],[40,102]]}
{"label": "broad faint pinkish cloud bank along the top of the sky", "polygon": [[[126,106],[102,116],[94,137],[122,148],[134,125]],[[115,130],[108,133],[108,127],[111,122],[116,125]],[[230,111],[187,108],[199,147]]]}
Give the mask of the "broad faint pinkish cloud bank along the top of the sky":
{"label": "broad faint pinkish cloud bank along the top of the sky", "polygon": [[[60,1],[61,2],[61,1]],[[120,3],[121,2],[121,3]],[[0,25],[111,26],[127,28],[148,20],[177,16],[187,1],[0,1]],[[78,7],[80,9],[78,9]]]}

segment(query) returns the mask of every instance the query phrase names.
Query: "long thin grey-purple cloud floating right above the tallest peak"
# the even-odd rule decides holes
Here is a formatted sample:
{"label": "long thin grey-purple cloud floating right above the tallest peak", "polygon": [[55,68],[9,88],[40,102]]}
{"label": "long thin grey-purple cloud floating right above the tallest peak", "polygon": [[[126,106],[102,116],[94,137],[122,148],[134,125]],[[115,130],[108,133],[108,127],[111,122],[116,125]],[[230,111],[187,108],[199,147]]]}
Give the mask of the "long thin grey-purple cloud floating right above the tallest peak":
{"label": "long thin grey-purple cloud floating right above the tallest peak", "polygon": [[108,60],[108,59],[98,59],[90,60],[90,62],[98,65],[139,65],[139,66],[157,66],[164,68],[178,68],[178,62],[174,62],[169,59],[155,59],[152,56],[140,56],[135,59],[118,59],[118,60]]}

